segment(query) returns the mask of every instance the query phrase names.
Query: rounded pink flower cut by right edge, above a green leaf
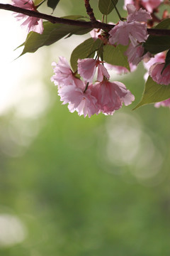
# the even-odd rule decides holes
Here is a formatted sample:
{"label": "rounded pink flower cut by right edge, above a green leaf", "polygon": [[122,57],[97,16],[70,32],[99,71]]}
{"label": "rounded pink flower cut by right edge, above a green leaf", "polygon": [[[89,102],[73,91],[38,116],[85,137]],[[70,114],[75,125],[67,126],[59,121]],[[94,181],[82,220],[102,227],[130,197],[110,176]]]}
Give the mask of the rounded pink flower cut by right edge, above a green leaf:
{"label": "rounded pink flower cut by right edge, above a green leaf", "polygon": [[170,84],[170,65],[168,65],[162,72],[164,65],[165,63],[154,63],[154,65],[149,68],[149,75],[159,85]]}

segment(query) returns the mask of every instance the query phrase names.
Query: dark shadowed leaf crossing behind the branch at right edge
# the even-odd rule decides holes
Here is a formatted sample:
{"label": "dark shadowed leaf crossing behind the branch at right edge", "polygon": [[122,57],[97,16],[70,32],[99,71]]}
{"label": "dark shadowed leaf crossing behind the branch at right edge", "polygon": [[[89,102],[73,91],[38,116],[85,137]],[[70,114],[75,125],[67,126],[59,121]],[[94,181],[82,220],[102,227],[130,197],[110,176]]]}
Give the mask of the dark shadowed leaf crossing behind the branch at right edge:
{"label": "dark shadowed leaf crossing behind the branch at right edge", "polygon": [[[170,18],[160,22],[155,28],[170,29]],[[149,36],[143,45],[150,53],[161,53],[170,48],[170,36]]]}

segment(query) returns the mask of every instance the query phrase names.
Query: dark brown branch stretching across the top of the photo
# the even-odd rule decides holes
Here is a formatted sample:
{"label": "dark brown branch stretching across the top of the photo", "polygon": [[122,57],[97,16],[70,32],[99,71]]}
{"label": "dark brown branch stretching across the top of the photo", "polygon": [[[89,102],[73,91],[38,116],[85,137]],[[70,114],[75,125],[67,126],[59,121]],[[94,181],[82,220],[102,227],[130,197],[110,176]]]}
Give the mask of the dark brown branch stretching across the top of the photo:
{"label": "dark brown branch stretching across the top of the photo", "polygon": [[[7,11],[14,11],[19,14],[26,14],[27,16],[42,18],[46,21],[50,21],[51,23],[60,23],[60,24],[67,24],[72,26],[80,26],[82,28],[101,28],[105,31],[110,31],[114,25],[102,23],[99,21],[74,21],[68,18],[57,18],[55,16],[42,14],[38,11],[30,11],[26,9],[22,9],[20,7],[12,6],[11,4],[0,4],[0,9],[4,9]],[[170,36],[170,29],[154,29],[154,28],[147,28],[147,32],[149,35],[152,36]]]}

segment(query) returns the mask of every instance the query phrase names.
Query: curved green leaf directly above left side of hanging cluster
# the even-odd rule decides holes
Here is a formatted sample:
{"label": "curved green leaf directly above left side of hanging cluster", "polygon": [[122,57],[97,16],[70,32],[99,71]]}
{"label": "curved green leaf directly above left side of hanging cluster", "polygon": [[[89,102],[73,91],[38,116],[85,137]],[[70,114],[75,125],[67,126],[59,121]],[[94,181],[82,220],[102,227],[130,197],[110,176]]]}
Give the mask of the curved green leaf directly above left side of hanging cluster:
{"label": "curved green leaf directly above left side of hanging cluster", "polygon": [[94,58],[96,50],[101,47],[102,43],[100,39],[94,41],[93,38],[89,38],[73,50],[70,63],[74,72],[77,70],[77,60],[79,58]]}

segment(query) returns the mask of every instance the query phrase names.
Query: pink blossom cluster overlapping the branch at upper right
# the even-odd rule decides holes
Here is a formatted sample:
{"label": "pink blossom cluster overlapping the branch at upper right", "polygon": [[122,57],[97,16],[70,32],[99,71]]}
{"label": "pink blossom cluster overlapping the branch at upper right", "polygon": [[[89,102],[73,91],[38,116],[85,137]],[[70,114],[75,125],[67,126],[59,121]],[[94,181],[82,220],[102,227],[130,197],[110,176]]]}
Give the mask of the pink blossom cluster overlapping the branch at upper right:
{"label": "pink blossom cluster overlapping the branch at upper right", "polygon": [[127,21],[119,21],[119,23],[109,31],[109,43],[112,45],[121,44],[123,46],[130,45],[125,55],[132,65],[137,65],[144,58],[149,58],[149,54],[144,54],[144,48],[141,43],[147,40],[147,20],[152,18],[148,11],[137,9],[132,4],[127,4],[128,11]]}

